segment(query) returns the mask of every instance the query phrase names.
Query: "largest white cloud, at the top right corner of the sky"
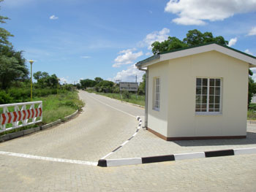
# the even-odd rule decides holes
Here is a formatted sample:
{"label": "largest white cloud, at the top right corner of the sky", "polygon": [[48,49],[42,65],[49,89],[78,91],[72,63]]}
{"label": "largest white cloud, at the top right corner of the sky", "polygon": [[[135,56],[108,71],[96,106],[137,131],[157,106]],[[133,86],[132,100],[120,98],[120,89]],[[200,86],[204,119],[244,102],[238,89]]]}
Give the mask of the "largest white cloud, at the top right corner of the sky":
{"label": "largest white cloud, at the top right corner of the sky", "polygon": [[165,12],[178,15],[178,18],[173,19],[174,23],[200,26],[206,24],[205,20],[224,20],[255,9],[255,0],[170,0],[166,4]]}

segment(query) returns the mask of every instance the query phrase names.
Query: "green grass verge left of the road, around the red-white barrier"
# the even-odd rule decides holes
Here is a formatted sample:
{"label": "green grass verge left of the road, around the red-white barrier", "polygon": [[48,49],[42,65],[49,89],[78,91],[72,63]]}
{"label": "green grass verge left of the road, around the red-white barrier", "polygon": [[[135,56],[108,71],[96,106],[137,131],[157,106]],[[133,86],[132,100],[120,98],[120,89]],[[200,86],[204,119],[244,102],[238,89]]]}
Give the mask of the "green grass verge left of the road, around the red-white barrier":
{"label": "green grass verge left of the road, around the red-white barrier", "polygon": [[[33,101],[42,101],[42,123],[36,125],[15,128],[10,131],[4,131],[1,135],[10,134],[16,131],[22,131],[28,128],[42,126],[56,120],[63,120],[64,117],[72,115],[76,110],[81,110],[84,106],[83,101],[79,100],[77,91],[66,91],[59,95],[48,95],[35,97]],[[13,110],[10,110],[12,112]]]}

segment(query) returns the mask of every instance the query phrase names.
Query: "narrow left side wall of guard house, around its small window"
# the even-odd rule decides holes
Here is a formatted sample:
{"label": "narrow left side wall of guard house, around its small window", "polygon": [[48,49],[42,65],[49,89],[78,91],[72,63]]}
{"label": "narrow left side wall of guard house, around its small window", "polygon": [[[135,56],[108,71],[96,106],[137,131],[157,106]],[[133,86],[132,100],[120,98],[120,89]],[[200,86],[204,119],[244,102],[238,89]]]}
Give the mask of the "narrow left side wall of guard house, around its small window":
{"label": "narrow left side wall of guard house, around its small window", "polygon": [[[167,137],[168,113],[168,62],[148,66],[148,128]],[[153,110],[153,81],[160,77],[160,107],[159,111]]]}

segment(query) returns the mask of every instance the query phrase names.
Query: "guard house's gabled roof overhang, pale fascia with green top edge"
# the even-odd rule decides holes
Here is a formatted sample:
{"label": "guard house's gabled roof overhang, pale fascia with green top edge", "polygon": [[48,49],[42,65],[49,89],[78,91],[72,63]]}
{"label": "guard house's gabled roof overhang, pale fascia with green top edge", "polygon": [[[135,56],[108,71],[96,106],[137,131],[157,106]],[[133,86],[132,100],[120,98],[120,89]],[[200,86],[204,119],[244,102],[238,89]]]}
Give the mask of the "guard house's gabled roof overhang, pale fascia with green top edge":
{"label": "guard house's gabled roof overhang, pale fascia with green top edge", "polygon": [[237,58],[249,64],[249,67],[256,67],[256,58],[252,55],[248,55],[239,50],[233,48],[211,43],[209,45],[200,45],[197,47],[189,47],[181,50],[174,50],[170,53],[160,53],[159,55],[153,55],[150,58],[146,58],[136,64],[138,69],[146,68],[152,64],[157,64],[161,61],[167,61],[174,58],[186,57],[189,55],[195,55],[198,53],[206,53],[208,51],[215,50],[219,53],[229,55],[230,57]]}

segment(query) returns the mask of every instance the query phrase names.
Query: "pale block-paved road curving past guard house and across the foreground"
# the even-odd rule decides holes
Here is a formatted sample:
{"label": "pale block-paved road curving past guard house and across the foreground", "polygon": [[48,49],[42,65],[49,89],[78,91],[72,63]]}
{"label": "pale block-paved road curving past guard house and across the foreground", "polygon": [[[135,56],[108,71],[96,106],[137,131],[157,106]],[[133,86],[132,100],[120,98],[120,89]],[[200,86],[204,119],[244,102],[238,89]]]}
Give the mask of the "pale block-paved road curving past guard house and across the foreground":
{"label": "pale block-paved road curving past guard house and across the foreground", "polygon": [[[140,108],[113,99],[86,92],[80,92],[80,97],[86,101],[86,107],[78,118],[28,137],[0,143],[0,151],[27,155],[27,158],[0,155],[0,191],[255,191],[256,155],[107,168],[76,163],[97,161],[121,145],[135,132],[138,122],[134,116],[143,115]],[[127,153],[139,155],[141,151],[145,155],[153,154],[159,142],[162,140],[140,130],[113,157],[127,156]],[[183,149],[198,147],[192,144],[172,145]],[[166,144],[165,148],[172,145]],[[195,150],[203,150],[199,147]],[[29,155],[56,158],[56,161],[34,159]],[[76,161],[57,161],[63,158]]]}

